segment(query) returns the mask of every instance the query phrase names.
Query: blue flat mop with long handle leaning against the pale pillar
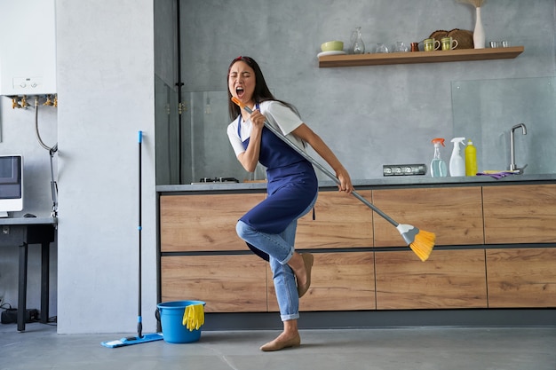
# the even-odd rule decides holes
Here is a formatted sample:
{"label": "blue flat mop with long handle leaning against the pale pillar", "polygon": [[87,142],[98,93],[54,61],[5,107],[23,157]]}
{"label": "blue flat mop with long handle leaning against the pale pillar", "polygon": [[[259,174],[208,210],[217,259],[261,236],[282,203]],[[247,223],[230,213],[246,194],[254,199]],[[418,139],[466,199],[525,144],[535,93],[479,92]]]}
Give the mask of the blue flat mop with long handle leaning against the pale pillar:
{"label": "blue flat mop with long handle leaning against the pale pillar", "polygon": [[123,347],[144,342],[155,342],[163,339],[162,333],[143,334],[143,319],[141,317],[141,143],[143,141],[143,131],[139,131],[139,314],[137,318],[137,335],[128,336],[115,341],[101,342],[107,348]]}

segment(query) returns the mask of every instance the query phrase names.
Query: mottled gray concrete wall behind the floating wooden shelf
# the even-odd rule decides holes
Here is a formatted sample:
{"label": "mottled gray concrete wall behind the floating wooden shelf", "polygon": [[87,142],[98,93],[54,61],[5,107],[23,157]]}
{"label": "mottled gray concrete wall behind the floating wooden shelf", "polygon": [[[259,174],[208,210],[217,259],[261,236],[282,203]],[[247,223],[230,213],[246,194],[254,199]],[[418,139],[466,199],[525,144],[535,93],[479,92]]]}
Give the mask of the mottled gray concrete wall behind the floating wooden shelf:
{"label": "mottled gray concrete wall behind the floating wooden shelf", "polygon": [[[471,135],[469,130],[464,130],[468,123],[465,112],[454,117],[453,108],[460,104],[458,99],[464,99],[467,105],[468,97],[478,93],[467,89],[453,100],[452,89],[457,88],[454,83],[480,80],[488,86],[487,80],[553,76],[556,67],[552,0],[501,0],[486,2],[481,9],[487,43],[509,40],[513,45],[523,45],[525,52],[517,59],[342,68],[318,67],[316,54],[322,42],[341,40],[347,50],[351,32],[358,26],[368,51],[377,43],[417,42],[437,29],[473,30],[475,10],[469,4],[446,0],[209,0],[184,4],[184,91],[222,91],[225,96],[229,62],[238,55],[258,60],[276,97],[298,107],[304,120],[329,143],[353,178],[382,177],[385,163],[429,164],[433,157],[431,139],[437,137],[447,139],[442,156],[448,161],[449,140]],[[499,108],[507,94],[504,88],[496,92],[491,90],[481,96],[477,109]],[[550,93],[548,99],[553,104],[553,87]],[[474,138],[479,153],[491,146],[503,152],[499,162],[487,162],[485,166],[507,168],[509,147],[500,146],[498,137],[507,141],[507,132],[515,123],[526,122],[529,128],[529,136],[522,141],[518,138],[518,144],[540,147],[544,143],[537,139],[547,134],[556,138],[552,130],[555,117],[548,106],[539,120],[537,114],[515,114],[520,107],[528,109],[530,103],[538,100],[529,91],[522,91],[522,98],[511,115],[498,114],[493,120],[489,114],[483,117],[484,121],[481,116],[473,121],[474,136],[486,125],[491,133],[481,140]],[[515,106],[514,102],[511,104]],[[468,112],[476,118],[474,113],[474,109]],[[226,108],[219,117],[223,122],[212,122],[206,116],[195,117],[196,122],[191,124],[199,128],[193,138],[196,145],[207,141],[208,124],[219,124],[225,130]],[[542,134],[535,138],[535,132]],[[226,144],[226,138],[212,139]],[[195,153],[201,157],[197,162],[206,167],[205,175],[197,169],[198,175],[222,176],[220,173],[226,166],[236,170],[231,150],[225,146],[218,148],[227,150],[223,154],[231,158],[226,165],[218,161],[206,163],[209,156],[204,148],[195,147]],[[553,163],[556,150],[551,153],[555,154],[552,165],[539,166],[539,171],[556,170]],[[536,161],[535,156],[531,156],[531,161]],[[532,169],[531,161],[529,169]],[[480,169],[493,168],[480,166]],[[240,179],[244,177],[241,169],[236,174]]]}

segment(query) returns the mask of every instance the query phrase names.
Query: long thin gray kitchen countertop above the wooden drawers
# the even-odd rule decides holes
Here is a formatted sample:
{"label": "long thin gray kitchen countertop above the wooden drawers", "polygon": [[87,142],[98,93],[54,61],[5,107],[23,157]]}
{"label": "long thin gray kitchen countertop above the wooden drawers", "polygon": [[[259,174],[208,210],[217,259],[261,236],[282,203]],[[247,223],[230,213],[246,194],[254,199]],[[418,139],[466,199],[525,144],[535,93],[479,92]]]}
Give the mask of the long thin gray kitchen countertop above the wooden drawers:
{"label": "long thin gray kitchen countertop above the wooden drawers", "polygon": [[[508,184],[556,184],[556,174],[539,175],[510,175],[496,179],[490,176],[473,177],[430,177],[430,176],[389,176],[369,179],[353,179],[353,186],[357,190],[364,187],[441,187],[449,185],[508,185]],[[336,184],[331,180],[319,181],[320,188],[334,188]],[[158,193],[174,192],[222,192],[222,191],[250,191],[264,190],[266,183],[205,183],[195,185],[157,185]]]}

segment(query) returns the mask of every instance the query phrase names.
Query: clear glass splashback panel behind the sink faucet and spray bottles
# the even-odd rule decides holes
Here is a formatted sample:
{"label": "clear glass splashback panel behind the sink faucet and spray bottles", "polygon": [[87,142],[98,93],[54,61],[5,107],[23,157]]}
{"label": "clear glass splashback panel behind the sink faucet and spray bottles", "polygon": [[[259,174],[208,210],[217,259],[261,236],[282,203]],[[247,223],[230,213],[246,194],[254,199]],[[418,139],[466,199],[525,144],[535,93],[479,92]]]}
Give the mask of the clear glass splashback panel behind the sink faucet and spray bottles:
{"label": "clear glass splashback panel behind the sink faucet and spray bottles", "polygon": [[510,131],[524,123],[526,135],[515,130],[515,163],[519,168],[527,164],[525,174],[556,173],[555,80],[452,82],[454,137],[473,140],[479,171],[510,168]]}

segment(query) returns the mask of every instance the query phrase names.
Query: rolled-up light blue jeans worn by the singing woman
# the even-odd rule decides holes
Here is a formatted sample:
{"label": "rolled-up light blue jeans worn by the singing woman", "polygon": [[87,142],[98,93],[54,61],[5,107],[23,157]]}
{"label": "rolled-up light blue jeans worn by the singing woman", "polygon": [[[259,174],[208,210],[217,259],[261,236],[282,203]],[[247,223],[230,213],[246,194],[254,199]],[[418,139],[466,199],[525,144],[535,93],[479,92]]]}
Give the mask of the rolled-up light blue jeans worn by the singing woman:
{"label": "rolled-up light blue jeans worn by the singing woman", "polygon": [[238,221],[235,230],[242,240],[270,256],[269,263],[273,272],[274,291],[280,307],[282,321],[299,318],[299,295],[296,277],[288,265],[295,251],[298,218],[305,216],[314,207],[317,197],[286,229],[279,234],[259,232],[242,221]]}

